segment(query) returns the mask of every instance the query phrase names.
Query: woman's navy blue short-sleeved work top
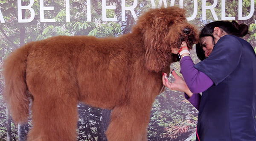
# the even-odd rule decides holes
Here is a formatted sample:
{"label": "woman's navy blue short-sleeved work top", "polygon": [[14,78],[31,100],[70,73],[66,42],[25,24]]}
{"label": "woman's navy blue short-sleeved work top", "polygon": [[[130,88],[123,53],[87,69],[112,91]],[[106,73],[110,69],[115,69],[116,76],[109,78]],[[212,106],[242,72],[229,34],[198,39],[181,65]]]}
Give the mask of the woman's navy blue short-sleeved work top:
{"label": "woman's navy blue short-sleeved work top", "polygon": [[256,141],[256,54],[252,46],[225,35],[195,68],[214,82],[201,97],[200,141]]}

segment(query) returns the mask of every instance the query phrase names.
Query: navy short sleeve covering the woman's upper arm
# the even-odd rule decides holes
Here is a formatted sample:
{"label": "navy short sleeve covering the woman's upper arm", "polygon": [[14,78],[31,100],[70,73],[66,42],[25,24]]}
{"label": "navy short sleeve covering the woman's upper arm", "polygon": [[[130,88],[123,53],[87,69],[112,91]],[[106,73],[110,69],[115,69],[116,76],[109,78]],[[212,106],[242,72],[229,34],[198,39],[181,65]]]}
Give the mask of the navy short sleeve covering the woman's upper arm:
{"label": "navy short sleeve covering the woman's upper arm", "polygon": [[237,68],[241,60],[243,45],[239,37],[225,35],[215,44],[212,53],[203,61],[194,65],[198,71],[206,74],[218,85]]}

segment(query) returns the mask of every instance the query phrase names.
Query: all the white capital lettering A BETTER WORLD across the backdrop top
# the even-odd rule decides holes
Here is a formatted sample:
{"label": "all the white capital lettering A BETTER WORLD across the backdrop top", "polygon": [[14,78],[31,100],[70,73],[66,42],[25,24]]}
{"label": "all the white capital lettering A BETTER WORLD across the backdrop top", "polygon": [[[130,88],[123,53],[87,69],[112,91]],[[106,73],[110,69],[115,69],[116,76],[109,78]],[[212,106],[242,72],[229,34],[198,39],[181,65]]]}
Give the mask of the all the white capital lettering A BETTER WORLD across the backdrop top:
{"label": "all the white capital lettering A BETTER WORLD across the backdrop top", "polygon": [[[208,0],[209,1],[209,0]],[[156,8],[156,3],[158,2],[157,7],[167,7],[168,3],[170,3],[170,6],[175,5],[175,0],[150,0],[151,2],[151,8]],[[184,0],[179,0],[179,6],[180,8],[183,8],[184,6]],[[28,1],[27,1],[28,3]],[[66,6],[66,22],[70,22],[70,0],[65,0],[65,6]],[[137,20],[137,15],[134,11],[134,9],[137,7],[138,0],[134,0],[133,5],[126,6],[126,1],[122,0],[121,8],[122,8],[122,21],[126,20],[126,11],[131,11],[132,16],[134,17],[134,20]],[[193,3],[193,13],[191,17],[187,17],[188,21],[194,20],[198,14],[198,0],[191,0],[189,3]],[[210,10],[212,17],[214,20],[218,20],[218,17],[215,13],[215,8],[217,6],[218,0],[212,0],[212,5],[207,6],[207,0],[202,0],[202,20],[206,20],[206,11]],[[34,0],[29,0],[28,4],[23,4],[26,6],[22,6],[22,0],[17,0],[17,18],[18,23],[29,23],[32,22],[35,19],[35,10],[32,8],[34,4]],[[248,20],[253,17],[254,11],[255,11],[255,0],[250,0],[250,11],[243,14],[243,0],[238,0],[238,19],[237,20]],[[54,10],[54,7],[52,6],[44,6],[44,0],[40,0],[40,22],[55,22],[55,19],[45,19],[44,18],[44,11],[46,10]],[[117,21],[116,16],[113,18],[107,17],[107,10],[114,10],[116,9],[115,5],[106,6],[106,0],[102,0],[102,21]],[[24,11],[26,14],[24,14]],[[244,9],[245,11],[245,9]],[[209,13],[209,12],[208,12]],[[1,8],[0,8],[0,23],[5,23],[5,19],[3,17]],[[30,15],[29,15],[30,14]],[[25,17],[26,15],[26,17]],[[228,17],[228,13],[226,13],[226,0],[221,0],[221,20],[236,20],[236,17]],[[247,15],[247,16],[246,16]],[[208,14],[207,16],[211,16]],[[227,16],[227,17],[226,17]],[[244,17],[243,17],[244,16]],[[87,0],[87,22],[91,22],[91,0]]]}

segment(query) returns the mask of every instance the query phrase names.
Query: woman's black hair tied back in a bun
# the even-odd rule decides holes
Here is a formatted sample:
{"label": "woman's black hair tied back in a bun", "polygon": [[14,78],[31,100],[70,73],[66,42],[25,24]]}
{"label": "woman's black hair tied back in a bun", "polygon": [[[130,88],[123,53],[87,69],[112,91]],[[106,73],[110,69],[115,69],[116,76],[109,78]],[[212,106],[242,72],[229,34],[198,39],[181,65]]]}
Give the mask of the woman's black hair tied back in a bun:
{"label": "woman's black hair tied back in a bun", "polygon": [[[210,36],[213,37],[213,29],[215,27],[221,28],[223,31],[225,31],[227,34],[235,35],[237,37],[244,37],[246,34],[248,34],[248,26],[244,23],[238,24],[236,21],[215,21],[212,23],[209,23],[204,26],[204,28],[201,30],[201,33],[199,35],[199,38]],[[196,54],[200,60],[205,59],[204,51],[202,48],[202,45],[198,43],[196,45]]]}

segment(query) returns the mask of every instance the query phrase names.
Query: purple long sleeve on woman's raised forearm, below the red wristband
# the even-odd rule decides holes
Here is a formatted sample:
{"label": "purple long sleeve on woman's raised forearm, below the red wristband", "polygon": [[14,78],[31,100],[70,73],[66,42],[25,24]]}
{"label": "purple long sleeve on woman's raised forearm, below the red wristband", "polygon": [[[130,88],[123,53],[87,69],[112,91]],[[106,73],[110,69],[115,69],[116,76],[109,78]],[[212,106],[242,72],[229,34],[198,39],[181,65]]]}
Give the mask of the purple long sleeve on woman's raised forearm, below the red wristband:
{"label": "purple long sleeve on woman's raised forearm, below the red wristband", "polygon": [[205,73],[198,71],[194,65],[190,56],[184,56],[180,60],[180,73],[192,93],[201,93],[211,87],[213,82]]}

